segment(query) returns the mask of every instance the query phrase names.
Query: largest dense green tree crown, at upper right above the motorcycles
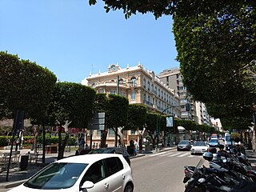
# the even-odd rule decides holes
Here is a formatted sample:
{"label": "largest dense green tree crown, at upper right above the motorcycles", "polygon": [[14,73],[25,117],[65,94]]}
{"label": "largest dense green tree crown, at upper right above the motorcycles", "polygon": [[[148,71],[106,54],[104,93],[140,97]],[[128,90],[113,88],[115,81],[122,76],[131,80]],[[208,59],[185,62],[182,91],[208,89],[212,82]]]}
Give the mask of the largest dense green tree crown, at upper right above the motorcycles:
{"label": "largest dense green tree crown, at upper right above the motorcycles", "polygon": [[248,69],[255,72],[254,9],[241,2],[208,11],[203,6],[174,14],[182,82],[195,100],[251,105],[256,93],[255,81],[248,76]]}

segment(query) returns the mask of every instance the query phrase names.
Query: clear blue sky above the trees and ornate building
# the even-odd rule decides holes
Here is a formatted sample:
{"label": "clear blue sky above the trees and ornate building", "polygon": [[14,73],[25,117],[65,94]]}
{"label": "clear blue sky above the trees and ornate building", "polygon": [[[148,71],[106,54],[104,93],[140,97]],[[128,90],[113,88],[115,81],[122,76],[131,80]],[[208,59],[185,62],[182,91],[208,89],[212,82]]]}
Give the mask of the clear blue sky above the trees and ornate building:
{"label": "clear blue sky above the trees and ornate building", "polygon": [[140,62],[159,74],[178,67],[171,17],[154,19],[122,10],[106,14],[98,0],[1,0],[0,50],[18,54],[51,70],[61,82],[82,82],[105,72]]}

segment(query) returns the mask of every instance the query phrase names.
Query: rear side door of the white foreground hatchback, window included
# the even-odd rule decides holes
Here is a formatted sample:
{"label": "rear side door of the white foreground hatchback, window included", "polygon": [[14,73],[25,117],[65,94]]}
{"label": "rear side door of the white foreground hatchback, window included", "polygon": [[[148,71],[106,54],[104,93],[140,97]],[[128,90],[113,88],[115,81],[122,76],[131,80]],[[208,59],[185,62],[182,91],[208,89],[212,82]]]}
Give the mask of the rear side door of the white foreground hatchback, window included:
{"label": "rear side door of the white foreground hatchback, window included", "polygon": [[110,191],[122,192],[125,182],[123,165],[118,157],[106,158],[106,176],[109,179]]}

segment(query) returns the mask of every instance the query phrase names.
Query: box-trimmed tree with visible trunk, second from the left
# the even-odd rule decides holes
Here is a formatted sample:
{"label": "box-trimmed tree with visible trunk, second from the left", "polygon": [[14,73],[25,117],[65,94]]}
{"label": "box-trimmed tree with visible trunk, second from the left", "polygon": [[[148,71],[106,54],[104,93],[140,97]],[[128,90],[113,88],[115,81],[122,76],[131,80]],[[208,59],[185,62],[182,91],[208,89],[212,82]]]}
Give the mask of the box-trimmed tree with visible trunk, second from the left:
{"label": "box-trimmed tree with visible trunk, second from the left", "polygon": [[[70,138],[68,126],[85,128],[92,117],[95,90],[78,83],[57,82],[51,96],[46,122],[58,126],[58,159],[63,158]],[[64,140],[62,134],[65,134]]]}

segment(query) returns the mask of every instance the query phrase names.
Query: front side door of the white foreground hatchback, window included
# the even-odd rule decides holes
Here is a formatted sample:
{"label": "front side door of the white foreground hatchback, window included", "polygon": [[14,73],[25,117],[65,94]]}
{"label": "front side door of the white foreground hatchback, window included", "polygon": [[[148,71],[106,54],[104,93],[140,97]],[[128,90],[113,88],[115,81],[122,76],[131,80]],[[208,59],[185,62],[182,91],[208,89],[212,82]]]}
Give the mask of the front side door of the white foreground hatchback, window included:
{"label": "front side door of the white foreground hatchback, window included", "polygon": [[86,174],[83,176],[80,186],[86,181],[94,183],[94,187],[87,189],[87,192],[110,192],[110,183],[109,178],[106,177],[106,167],[103,160],[94,162],[90,168],[86,171]]}

